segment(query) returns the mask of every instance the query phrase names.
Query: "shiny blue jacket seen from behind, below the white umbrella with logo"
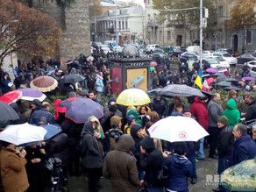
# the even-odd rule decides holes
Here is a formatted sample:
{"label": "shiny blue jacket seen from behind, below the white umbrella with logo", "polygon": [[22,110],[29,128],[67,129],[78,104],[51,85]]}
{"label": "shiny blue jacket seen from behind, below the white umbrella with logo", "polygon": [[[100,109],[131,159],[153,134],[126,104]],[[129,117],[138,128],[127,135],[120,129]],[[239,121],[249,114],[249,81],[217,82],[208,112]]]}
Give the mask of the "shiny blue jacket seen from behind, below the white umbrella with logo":
{"label": "shiny blue jacket seen from behind, below the white umbrella with logo", "polygon": [[164,166],[169,170],[167,189],[188,191],[188,177],[192,177],[192,163],[184,156],[173,154],[165,160]]}

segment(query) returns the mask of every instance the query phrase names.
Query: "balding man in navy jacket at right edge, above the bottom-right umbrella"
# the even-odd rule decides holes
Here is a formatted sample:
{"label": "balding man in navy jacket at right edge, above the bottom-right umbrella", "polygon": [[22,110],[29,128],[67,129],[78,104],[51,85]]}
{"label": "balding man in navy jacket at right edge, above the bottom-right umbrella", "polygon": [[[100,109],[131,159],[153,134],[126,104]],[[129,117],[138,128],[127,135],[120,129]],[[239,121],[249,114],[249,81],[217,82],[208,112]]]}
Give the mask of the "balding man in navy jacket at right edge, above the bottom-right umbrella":
{"label": "balding man in navy jacket at right edge, above the bottom-right umbrella", "polygon": [[256,145],[244,124],[236,124],[233,129],[235,142],[231,153],[230,166],[235,166],[243,160],[251,160],[256,156]]}

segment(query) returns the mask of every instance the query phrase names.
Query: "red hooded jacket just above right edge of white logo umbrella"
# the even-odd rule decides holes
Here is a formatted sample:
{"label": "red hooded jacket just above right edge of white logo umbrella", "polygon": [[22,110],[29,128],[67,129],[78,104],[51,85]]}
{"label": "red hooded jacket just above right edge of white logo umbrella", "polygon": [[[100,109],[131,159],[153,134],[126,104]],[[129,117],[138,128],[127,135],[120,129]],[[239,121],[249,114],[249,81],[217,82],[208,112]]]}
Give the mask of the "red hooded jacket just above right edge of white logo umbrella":
{"label": "red hooded jacket just above right edge of white logo umbrella", "polygon": [[208,130],[208,110],[198,96],[196,96],[194,103],[191,105],[190,112],[192,116],[196,117],[198,124]]}

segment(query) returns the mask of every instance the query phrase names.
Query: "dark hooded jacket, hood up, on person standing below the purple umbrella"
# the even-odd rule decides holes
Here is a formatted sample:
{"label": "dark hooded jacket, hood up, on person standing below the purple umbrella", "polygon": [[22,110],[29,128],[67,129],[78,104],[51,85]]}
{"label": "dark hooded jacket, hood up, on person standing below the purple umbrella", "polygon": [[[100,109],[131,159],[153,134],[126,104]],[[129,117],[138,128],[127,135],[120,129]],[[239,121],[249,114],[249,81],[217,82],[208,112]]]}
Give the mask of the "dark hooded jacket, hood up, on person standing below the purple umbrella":
{"label": "dark hooded jacket, hood up, on person standing below the purple umbrella", "polygon": [[94,138],[92,126],[84,126],[82,132],[82,166],[85,168],[102,167],[103,154]]}

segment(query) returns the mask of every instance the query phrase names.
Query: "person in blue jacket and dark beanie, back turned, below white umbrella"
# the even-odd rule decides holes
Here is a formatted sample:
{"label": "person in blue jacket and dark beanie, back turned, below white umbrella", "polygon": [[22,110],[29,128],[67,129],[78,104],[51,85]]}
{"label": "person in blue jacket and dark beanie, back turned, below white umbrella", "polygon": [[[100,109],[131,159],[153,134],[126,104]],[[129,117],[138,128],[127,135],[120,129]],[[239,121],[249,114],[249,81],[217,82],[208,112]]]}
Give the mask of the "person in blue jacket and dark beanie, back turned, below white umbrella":
{"label": "person in blue jacket and dark beanie, back turned, below white umbrella", "polygon": [[167,191],[188,191],[188,177],[192,178],[192,163],[186,158],[185,142],[174,142],[174,154],[164,161],[168,168]]}

